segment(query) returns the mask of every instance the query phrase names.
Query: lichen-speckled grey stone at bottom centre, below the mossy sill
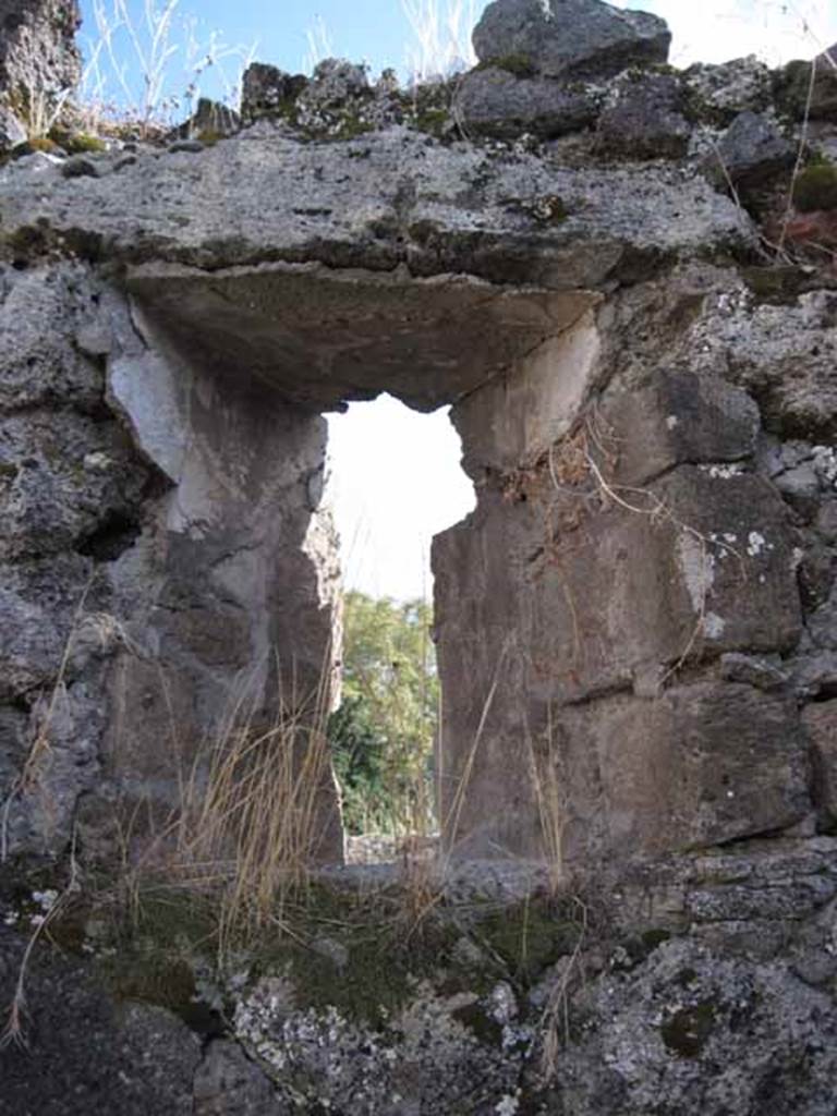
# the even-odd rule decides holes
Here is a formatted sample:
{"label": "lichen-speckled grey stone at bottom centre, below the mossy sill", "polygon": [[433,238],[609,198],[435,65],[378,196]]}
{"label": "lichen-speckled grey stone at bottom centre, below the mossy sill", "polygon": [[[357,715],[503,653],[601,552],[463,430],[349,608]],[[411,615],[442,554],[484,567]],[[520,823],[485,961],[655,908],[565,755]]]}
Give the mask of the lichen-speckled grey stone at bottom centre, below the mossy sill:
{"label": "lichen-speckled grey stone at bottom centre, below the mossy sill", "polygon": [[[288,978],[266,977],[241,998],[234,1019],[239,1041],[269,1067],[286,1103],[479,1116],[517,1096],[528,1031],[498,1022],[502,1004],[490,993],[445,992],[422,981],[385,1028],[334,1007],[300,1009],[296,995]],[[501,1056],[500,1042],[479,1037],[471,1017],[485,1019],[500,1042],[508,1039]]]}

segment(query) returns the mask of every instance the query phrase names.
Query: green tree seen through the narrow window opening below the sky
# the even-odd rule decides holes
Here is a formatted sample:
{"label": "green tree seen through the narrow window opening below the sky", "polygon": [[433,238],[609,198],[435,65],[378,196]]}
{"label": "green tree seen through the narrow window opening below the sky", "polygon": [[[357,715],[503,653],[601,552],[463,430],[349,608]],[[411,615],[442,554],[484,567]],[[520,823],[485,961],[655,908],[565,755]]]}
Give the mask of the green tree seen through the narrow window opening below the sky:
{"label": "green tree seen through the narrow window opening below the sky", "polygon": [[423,600],[344,598],[343,704],[329,735],[354,831],[432,824],[439,679]]}

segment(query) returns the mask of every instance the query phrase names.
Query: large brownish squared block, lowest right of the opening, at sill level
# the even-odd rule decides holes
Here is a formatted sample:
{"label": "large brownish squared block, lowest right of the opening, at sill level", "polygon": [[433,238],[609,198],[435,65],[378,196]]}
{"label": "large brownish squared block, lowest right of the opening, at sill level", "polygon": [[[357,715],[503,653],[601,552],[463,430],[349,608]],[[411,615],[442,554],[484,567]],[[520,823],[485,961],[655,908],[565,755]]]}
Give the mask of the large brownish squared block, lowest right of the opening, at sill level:
{"label": "large brownish squared block, lowest right of the opening, at sill level", "polygon": [[679,685],[554,713],[565,855],[662,853],[792,826],[810,810],[793,703],[751,686]]}

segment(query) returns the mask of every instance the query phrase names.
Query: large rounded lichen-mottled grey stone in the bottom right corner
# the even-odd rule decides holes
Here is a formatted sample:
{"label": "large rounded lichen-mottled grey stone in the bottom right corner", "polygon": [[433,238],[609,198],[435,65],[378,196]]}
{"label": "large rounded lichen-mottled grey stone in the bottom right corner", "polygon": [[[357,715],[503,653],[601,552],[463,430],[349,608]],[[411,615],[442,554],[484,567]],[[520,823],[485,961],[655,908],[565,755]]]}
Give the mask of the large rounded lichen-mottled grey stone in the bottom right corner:
{"label": "large rounded lichen-mottled grey stone in the bottom right corner", "polygon": [[574,1007],[585,1023],[561,1050],[554,1100],[574,1116],[652,1112],[661,1098],[671,1112],[710,1116],[833,1108],[834,1003],[787,965],[664,943]]}

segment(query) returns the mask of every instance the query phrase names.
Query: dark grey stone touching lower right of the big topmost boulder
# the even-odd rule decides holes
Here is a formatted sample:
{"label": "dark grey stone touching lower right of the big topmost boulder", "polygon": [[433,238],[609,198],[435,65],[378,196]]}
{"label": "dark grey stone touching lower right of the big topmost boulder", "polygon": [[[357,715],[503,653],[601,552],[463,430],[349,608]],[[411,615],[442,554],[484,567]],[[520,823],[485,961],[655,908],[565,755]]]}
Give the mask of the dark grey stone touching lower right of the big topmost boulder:
{"label": "dark grey stone touching lower right of the big topmost boulder", "polygon": [[691,128],[683,116],[680,81],[652,74],[622,81],[602,114],[598,140],[606,155],[622,158],[682,158]]}

